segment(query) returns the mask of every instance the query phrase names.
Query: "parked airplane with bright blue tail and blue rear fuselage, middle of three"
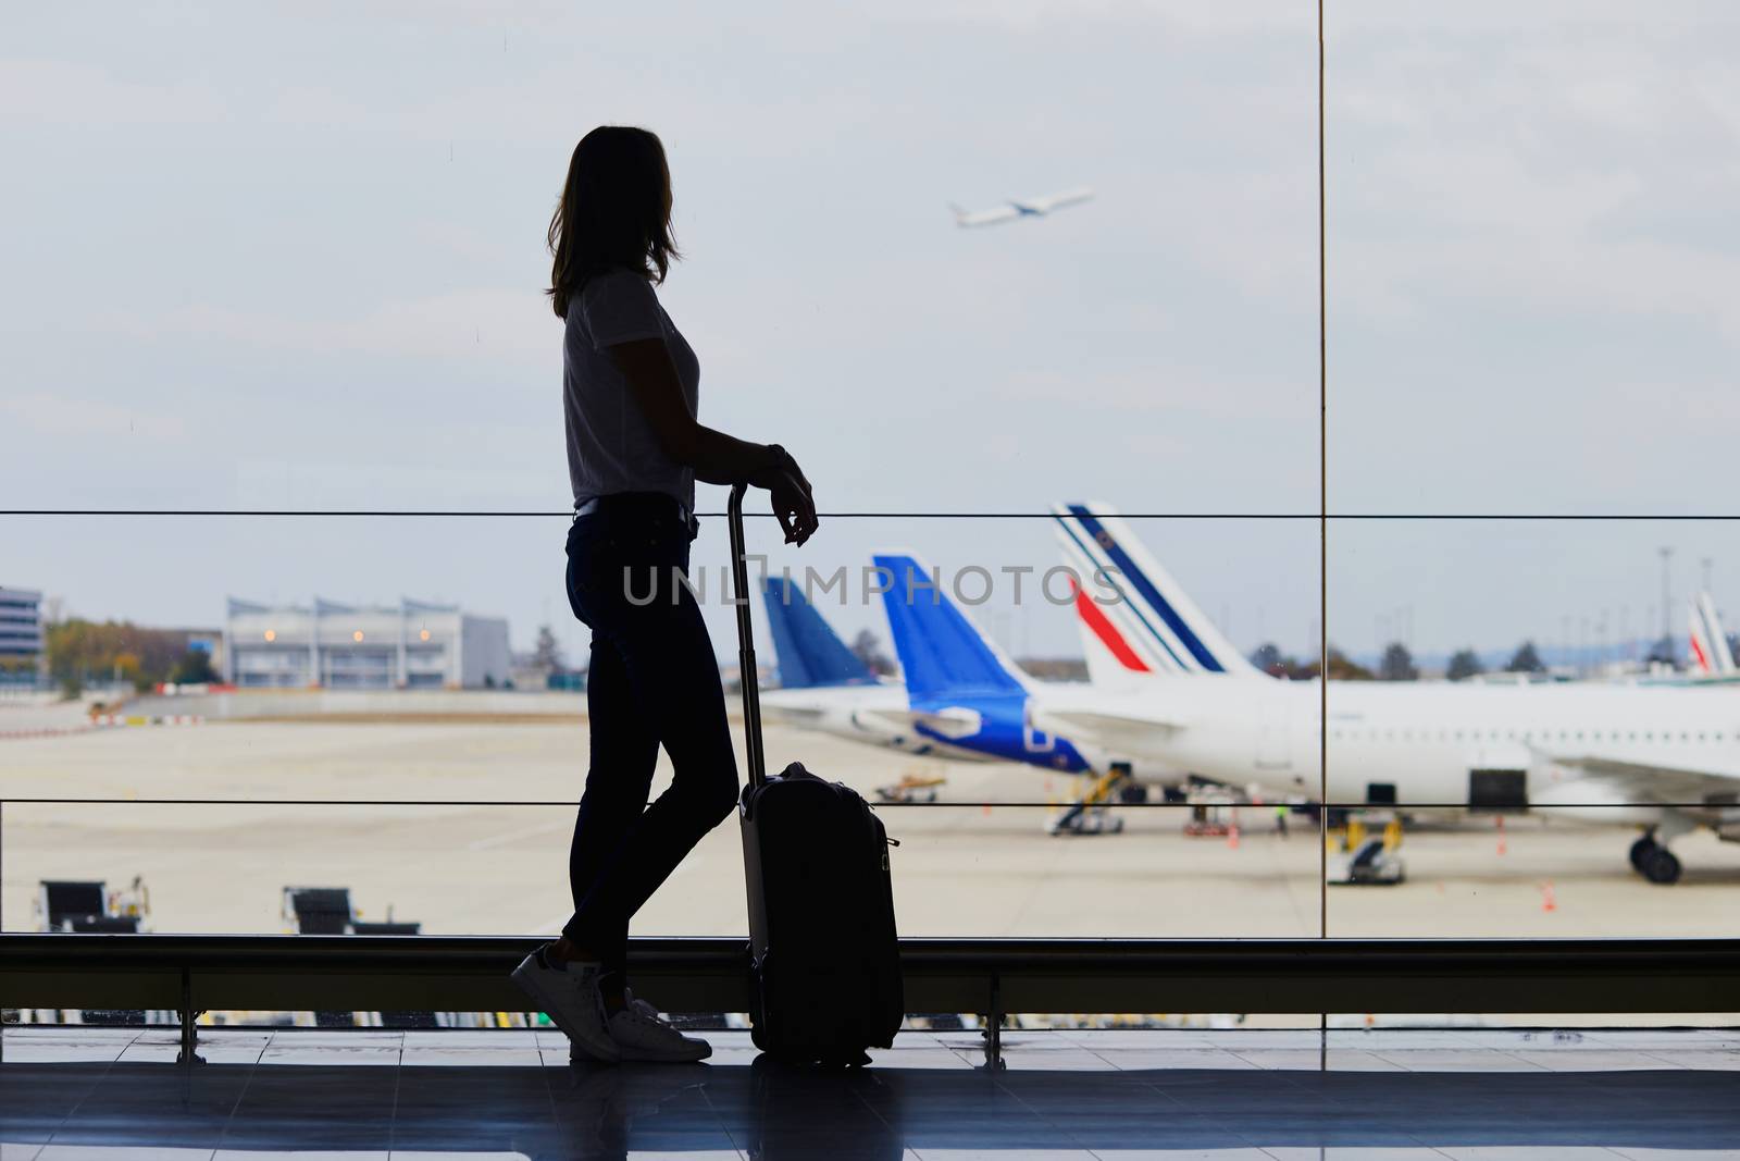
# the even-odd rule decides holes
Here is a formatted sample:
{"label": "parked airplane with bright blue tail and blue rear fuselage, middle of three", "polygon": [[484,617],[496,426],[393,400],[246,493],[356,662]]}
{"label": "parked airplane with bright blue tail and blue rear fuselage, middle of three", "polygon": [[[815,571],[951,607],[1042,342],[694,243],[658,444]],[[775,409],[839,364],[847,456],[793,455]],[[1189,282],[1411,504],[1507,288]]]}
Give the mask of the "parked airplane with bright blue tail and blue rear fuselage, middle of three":
{"label": "parked airplane with bright blue tail and blue rear fuselage, middle of three", "polygon": [[[907,679],[912,722],[919,733],[964,750],[1070,775],[1107,775],[1126,755],[1034,726],[1034,714],[1058,691],[1004,656],[955,607],[936,573],[907,554],[873,557],[891,578],[882,594],[894,649]],[[1174,766],[1133,755],[1138,785],[1178,785]]]}

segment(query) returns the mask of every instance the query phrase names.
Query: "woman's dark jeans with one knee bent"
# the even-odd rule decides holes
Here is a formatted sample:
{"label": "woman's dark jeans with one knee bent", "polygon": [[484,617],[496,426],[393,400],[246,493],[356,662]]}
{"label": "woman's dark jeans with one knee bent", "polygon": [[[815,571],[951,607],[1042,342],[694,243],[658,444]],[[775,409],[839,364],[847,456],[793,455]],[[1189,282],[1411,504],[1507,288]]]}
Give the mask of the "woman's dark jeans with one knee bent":
{"label": "woman's dark jeans with one knee bent", "polygon": [[[574,917],[562,935],[607,971],[625,968],[628,919],[738,799],[719,663],[680,583],[689,540],[675,501],[640,493],[606,498],[567,533],[569,604],[592,627],[592,769],[569,851]],[[649,804],[659,745],[675,773]]]}

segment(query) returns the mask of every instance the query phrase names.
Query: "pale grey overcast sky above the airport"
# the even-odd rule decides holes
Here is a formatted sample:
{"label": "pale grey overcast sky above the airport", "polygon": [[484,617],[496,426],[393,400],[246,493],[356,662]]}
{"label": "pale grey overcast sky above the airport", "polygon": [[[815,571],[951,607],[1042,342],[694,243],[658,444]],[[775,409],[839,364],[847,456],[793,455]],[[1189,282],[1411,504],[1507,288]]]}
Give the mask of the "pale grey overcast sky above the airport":
{"label": "pale grey overcast sky above the airport", "polygon": [[[7,508],[562,510],[543,232],[574,141],[626,122],[670,153],[703,419],[790,446],[825,508],[1315,512],[1308,5],[103,12],[5,16]],[[1331,2],[1331,510],[1737,510],[1735,59],[1731,3]],[[0,583],[87,616],[409,594],[585,641],[562,519],[0,524]],[[1141,531],[1241,646],[1307,648],[1312,522]],[[889,545],[1056,559],[1042,520],[893,519],[780,559]],[[1611,641],[1660,623],[1658,545],[1676,606],[1709,557],[1740,607],[1728,524],[1336,524],[1331,637]],[[983,620],[1075,648],[1042,602]]]}

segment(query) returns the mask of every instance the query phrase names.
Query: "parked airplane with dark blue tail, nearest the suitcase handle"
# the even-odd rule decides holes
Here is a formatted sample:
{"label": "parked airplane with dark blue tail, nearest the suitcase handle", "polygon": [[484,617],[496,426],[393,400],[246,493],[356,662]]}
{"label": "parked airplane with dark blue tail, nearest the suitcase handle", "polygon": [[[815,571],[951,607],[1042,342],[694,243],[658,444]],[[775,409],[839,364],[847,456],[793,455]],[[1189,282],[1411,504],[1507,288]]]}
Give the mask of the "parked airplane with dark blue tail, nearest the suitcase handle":
{"label": "parked airplane with dark blue tail, nearest the suitcase handle", "polygon": [[985,761],[919,733],[905,686],[879,681],[790,580],[766,578],[762,601],[780,677],[778,689],[760,695],[766,721],[907,754]]}

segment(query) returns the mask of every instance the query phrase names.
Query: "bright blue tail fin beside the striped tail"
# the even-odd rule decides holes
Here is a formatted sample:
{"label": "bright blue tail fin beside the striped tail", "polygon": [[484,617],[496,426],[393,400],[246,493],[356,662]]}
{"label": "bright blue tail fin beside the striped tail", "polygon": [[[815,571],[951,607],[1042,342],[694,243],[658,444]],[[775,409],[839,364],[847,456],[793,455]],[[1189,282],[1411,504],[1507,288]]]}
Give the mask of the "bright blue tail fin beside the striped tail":
{"label": "bright blue tail fin beside the striped tail", "polygon": [[882,607],[914,703],[1025,693],[1021,672],[955,609],[929,569],[898,554],[879,555],[875,564],[893,578]]}

